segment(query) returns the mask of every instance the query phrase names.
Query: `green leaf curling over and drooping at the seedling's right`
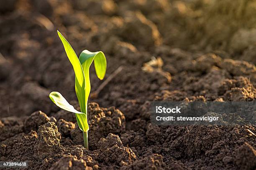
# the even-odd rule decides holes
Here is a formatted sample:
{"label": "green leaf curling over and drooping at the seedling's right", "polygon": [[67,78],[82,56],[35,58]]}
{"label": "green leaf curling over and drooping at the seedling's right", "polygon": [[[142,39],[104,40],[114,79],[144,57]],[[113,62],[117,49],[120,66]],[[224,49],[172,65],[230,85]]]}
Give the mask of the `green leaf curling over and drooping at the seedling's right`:
{"label": "green leaf curling over and drooping at the seedling's right", "polygon": [[107,60],[102,51],[98,52],[90,52],[88,50],[84,50],[79,55],[79,61],[82,65],[82,69],[84,70],[84,77],[85,77],[85,102],[87,105],[88,97],[91,91],[91,84],[90,84],[90,66],[92,61],[94,60],[94,66],[96,70],[97,77],[102,80],[105,77],[106,69],[107,69]]}

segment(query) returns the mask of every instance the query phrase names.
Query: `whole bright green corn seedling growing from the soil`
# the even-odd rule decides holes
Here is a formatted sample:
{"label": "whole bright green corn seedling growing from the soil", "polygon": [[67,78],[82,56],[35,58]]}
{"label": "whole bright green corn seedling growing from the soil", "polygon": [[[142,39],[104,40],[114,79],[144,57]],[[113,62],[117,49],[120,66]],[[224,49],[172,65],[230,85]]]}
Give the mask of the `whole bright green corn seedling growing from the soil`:
{"label": "whole bright green corn seedling growing from the soil", "polygon": [[102,51],[90,52],[88,50],[82,51],[78,59],[69,42],[59,31],[57,32],[75,72],[75,90],[81,112],[75,110],[59,92],[51,92],[49,97],[60,108],[75,113],[77,124],[83,131],[84,148],[88,150],[87,102],[91,90],[89,69],[94,61],[96,75],[102,80],[105,77],[107,60]]}

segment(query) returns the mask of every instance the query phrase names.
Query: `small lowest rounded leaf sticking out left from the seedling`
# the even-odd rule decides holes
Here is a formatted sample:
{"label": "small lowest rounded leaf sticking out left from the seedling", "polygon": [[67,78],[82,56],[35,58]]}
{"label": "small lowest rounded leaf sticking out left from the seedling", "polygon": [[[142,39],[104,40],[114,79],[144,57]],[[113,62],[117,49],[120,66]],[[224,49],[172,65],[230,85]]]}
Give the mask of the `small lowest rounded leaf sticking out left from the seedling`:
{"label": "small lowest rounded leaf sticking out left from the seedling", "polygon": [[74,107],[70,105],[69,102],[67,102],[67,100],[59,92],[51,92],[49,97],[51,101],[54,102],[55,105],[59,106],[61,109],[77,114],[84,114],[75,110]]}

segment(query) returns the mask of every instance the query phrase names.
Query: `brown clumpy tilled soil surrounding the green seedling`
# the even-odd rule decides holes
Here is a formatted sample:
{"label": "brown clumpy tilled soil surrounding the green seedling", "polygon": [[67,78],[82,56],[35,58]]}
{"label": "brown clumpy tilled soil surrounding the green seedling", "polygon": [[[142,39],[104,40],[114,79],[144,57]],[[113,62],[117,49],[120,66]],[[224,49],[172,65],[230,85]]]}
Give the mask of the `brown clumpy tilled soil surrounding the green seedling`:
{"label": "brown clumpy tilled soil surrounding the green seedling", "polygon": [[[238,2],[214,2],[1,0],[0,161],[27,160],[37,170],[254,170],[255,125],[150,122],[151,101],[256,100],[255,18],[248,17],[256,6],[241,0],[241,12]],[[74,114],[48,97],[59,91],[79,109],[56,30],[77,54],[105,52],[106,78],[123,67],[89,98],[89,151]],[[142,70],[152,56],[171,82]],[[90,71],[94,92],[102,82]]]}

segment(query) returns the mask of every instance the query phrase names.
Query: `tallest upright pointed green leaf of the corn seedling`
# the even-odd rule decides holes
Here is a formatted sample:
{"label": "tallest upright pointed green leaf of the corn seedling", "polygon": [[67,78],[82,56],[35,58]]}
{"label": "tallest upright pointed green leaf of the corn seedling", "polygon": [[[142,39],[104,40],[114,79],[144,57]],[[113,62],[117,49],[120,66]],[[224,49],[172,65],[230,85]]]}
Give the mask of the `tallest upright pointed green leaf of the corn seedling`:
{"label": "tallest upright pointed green leaf of the corn seedling", "polygon": [[63,37],[63,35],[59,31],[57,32],[59,38],[61,39],[61,42],[63,43],[64,49],[67,53],[67,57],[69,58],[69,61],[71,62],[75,72],[75,90],[80,105],[80,110],[84,113],[76,114],[77,123],[82,131],[87,132],[89,130],[89,126],[87,123],[87,100],[85,97],[84,71],[82,69],[82,65],[80,64],[76,53],[74,52],[69,42],[65,39],[65,37]]}

